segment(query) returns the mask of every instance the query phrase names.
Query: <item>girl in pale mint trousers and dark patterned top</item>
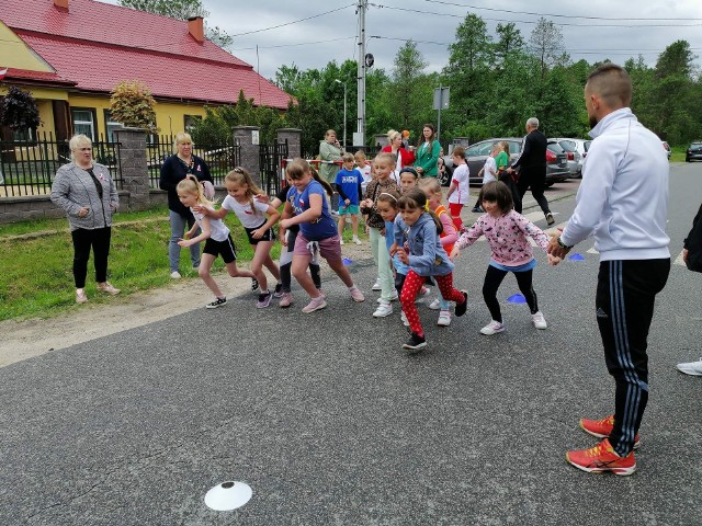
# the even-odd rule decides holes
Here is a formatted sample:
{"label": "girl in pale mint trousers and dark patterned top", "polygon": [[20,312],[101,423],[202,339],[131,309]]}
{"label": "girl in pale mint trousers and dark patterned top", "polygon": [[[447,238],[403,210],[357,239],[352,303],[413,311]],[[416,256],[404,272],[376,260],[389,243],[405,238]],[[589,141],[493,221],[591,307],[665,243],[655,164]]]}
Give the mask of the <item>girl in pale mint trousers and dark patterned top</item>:
{"label": "girl in pale mint trousers and dark patterned top", "polygon": [[361,202],[361,210],[369,216],[366,225],[369,227],[373,261],[377,266],[378,278],[373,285],[373,289],[375,290],[378,287],[381,289],[381,301],[375,312],[373,312],[373,317],[385,318],[393,313],[390,301],[393,300],[395,287],[393,286],[390,258],[383,236],[385,221],[377,211],[376,203],[383,192],[399,192],[399,188],[395,181],[390,179],[395,168],[395,158],[392,153],[378,153],[373,160],[373,168],[375,169],[375,179],[365,188],[364,198]]}

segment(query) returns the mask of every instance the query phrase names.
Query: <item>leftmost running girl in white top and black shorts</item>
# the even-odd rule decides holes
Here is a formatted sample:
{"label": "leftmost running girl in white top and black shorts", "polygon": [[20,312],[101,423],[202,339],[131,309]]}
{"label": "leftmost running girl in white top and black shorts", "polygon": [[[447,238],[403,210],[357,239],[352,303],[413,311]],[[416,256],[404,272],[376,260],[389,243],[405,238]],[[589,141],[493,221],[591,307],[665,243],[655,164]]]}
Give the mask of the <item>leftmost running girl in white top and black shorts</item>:
{"label": "leftmost running girl in white top and black shorts", "polygon": [[[189,207],[195,217],[195,224],[185,232],[185,239],[180,239],[178,244],[180,247],[192,247],[205,240],[205,248],[203,249],[202,260],[197,267],[197,274],[202,281],[205,282],[207,288],[215,295],[215,300],[205,307],[216,309],[227,304],[227,298],[222,294],[217,282],[214,281],[210,273],[217,255],[222,255],[227,272],[231,277],[253,277],[253,273],[251,271],[240,271],[237,268],[237,252],[227,226],[222,222],[220,219],[211,219],[204,214],[205,209],[214,213],[212,208],[213,203],[204,196],[202,184],[197,179],[194,175],[186,175],[185,179],[178,183],[176,192],[179,201],[183,206]],[[196,211],[196,209],[203,211]],[[197,228],[201,229],[201,232],[193,238]]]}

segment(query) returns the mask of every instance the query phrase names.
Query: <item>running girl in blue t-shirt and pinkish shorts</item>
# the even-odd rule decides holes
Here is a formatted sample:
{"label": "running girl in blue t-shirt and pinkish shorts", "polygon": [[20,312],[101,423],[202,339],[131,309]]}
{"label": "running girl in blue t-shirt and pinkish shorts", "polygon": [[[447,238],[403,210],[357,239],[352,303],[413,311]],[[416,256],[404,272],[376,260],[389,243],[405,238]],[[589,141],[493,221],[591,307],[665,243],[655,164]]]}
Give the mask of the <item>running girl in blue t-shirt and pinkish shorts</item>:
{"label": "running girl in blue t-shirt and pinkish shorts", "polygon": [[310,298],[309,304],[303,308],[303,312],[314,312],[327,306],[325,296],[307,274],[307,267],[317,252],[327,260],[331,270],[349,287],[351,298],[354,301],[363,301],[365,299],[363,293],[354,285],[349,270],[341,260],[337,224],[329,214],[329,205],[325,196],[325,188],[331,193],[331,187],[322,186],[315,179],[312,167],[304,159],[293,160],[287,165],[286,174],[293,187],[287,193],[280,226],[284,233],[290,227],[299,225],[299,233],[293,251],[292,272]]}

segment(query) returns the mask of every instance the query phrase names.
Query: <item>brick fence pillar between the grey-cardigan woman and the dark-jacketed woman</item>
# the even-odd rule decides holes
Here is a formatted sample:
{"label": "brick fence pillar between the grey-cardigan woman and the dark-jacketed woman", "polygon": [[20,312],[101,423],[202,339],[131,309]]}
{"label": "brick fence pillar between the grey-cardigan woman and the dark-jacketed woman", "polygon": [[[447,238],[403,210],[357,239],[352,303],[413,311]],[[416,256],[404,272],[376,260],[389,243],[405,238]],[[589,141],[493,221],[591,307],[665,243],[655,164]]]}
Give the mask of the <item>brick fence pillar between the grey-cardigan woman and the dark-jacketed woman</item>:
{"label": "brick fence pillar between the grey-cardigan woman and the dark-jacketed woman", "polygon": [[114,135],[115,140],[120,142],[122,187],[129,195],[128,208],[145,210],[150,206],[146,132],[138,128],[117,128]]}

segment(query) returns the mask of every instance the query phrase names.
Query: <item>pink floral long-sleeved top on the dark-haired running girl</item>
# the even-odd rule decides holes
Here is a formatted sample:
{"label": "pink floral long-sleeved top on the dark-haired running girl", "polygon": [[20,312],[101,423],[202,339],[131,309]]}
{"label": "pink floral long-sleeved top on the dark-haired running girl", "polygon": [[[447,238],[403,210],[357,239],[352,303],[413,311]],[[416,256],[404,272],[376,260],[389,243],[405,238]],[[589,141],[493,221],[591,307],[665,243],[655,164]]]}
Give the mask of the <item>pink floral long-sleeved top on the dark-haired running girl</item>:
{"label": "pink floral long-sleeved top on the dark-haired running girl", "polygon": [[503,266],[520,266],[534,259],[529,244],[531,237],[546,252],[548,238],[541,228],[521,214],[510,210],[500,217],[484,214],[465,231],[456,242],[456,247],[465,249],[480,236],[485,236],[492,249],[491,260]]}

